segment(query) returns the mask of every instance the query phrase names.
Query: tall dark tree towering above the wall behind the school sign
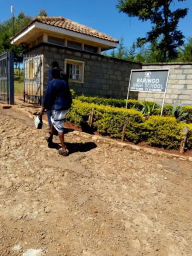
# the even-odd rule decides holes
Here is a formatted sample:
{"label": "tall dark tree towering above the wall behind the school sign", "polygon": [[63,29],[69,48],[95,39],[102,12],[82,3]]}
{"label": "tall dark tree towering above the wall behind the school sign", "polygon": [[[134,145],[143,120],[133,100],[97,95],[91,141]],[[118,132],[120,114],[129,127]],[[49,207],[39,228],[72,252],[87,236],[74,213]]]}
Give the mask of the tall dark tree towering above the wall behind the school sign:
{"label": "tall dark tree towering above the wall behind the school sign", "polygon": [[[117,8],[129,17],[138,17],[142,22],[150,20],[152,30],[143,38],[137,39],[142,46],[161,38],[157,49],[163,55],[163,61],[177,58],[178,47],[184,44],[184,36],[178,30],[178,22],[187,15],[188,9],[171,10],[174,0],[118,0]],[[185,0],[177,0],[178,2]]]}

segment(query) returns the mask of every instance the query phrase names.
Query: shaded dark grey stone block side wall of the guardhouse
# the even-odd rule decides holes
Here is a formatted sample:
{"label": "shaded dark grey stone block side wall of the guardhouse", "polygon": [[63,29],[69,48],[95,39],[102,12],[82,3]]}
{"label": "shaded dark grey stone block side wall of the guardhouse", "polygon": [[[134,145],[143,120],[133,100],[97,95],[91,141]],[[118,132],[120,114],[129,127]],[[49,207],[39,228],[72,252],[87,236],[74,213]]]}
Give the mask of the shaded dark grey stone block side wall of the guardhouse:
{"label": "shaded dark grey stone block side wall of the guardhouse", "polygon": [[84,82],[70,82],[70,87],[77,94],[100,97],[126,98],[131,69],[141,69],[142,65],[106,57],[95,53],[87,53],[75,49],[41,44],[28,54],[43,54],[44,89],[47,85],[48,70],[51,62],[57,60],[64,70],[64,60],[84,61]]}

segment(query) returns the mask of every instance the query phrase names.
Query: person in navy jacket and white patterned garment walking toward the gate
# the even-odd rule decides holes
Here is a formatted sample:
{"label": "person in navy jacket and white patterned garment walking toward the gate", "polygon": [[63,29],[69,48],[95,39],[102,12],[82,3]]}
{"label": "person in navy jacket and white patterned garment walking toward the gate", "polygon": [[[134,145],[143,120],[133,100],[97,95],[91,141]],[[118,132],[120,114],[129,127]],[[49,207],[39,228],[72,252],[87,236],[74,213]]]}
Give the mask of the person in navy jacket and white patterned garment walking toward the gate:
{"label": "person in navy jacket and white patterned garment walking toward the gate", "polygon": [[66,80],[61,80],[60,69],[53,68],[51,76],[52,80],[48,83],[46,88],[40,115],[43,115],[45,109],[51,109],[50,137],[47,138],[48,145],[51,147],[51,144],[53,143],[54,129],[56,129],[62,146],[62,149],[59,150],[59,154],[67,156],[64,142],[64,118],[70,110],[72,98],[68,82]]}

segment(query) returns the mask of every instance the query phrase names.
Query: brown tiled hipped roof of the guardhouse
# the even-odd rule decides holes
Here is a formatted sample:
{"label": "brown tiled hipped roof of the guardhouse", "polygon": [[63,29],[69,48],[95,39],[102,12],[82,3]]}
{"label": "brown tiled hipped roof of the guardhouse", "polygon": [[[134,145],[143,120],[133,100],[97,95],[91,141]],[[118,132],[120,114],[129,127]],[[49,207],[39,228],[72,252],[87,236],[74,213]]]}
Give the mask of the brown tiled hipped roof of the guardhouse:
{"label": "brown tiled hipped roof of the guardhouse", "polygon": [[73,32],[82,33],[82,34],[90,35],[93,37],[97,37],[99,39],[104,39],[104,40],[118,43],[117,39],[112,38],[111,36],[108,36],[105,33],[102,33],[94,30],[93,28],[78,24],[64,17],[36,17],[32,22],[34,21],[38,21],[40,23],[44,23],[47,25],[64,28]]}

